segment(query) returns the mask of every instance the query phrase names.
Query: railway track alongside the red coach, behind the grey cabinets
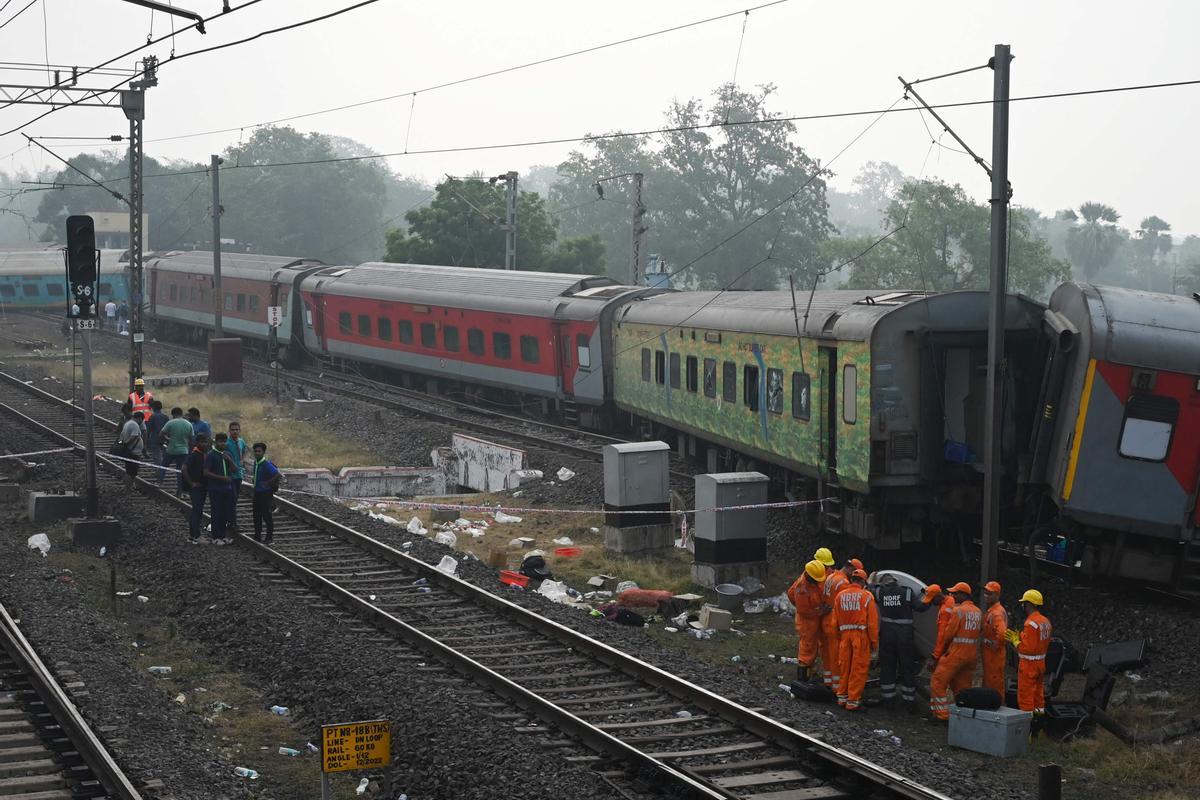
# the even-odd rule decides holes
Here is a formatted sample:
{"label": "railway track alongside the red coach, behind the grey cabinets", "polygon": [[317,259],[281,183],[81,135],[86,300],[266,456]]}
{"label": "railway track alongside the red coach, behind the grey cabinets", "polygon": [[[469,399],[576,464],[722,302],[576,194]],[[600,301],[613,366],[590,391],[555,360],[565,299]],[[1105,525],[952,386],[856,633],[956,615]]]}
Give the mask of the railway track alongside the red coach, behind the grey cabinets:
{"label": "railway track alongside the red coach, behind the grey cabinets", "polygon": [[[31,315],[44,321],[61,321],[49,314]],[[113,331],[104,330],[97,331],[97,333],[122,342],[128,341]],[[203,355],[196,348],[172,342],[156,341],[148,344],[192,357]],[[247,360],[242,362],[242,367],[264,380],[270,381],[275,379],[275,371],[269,366]],[[415,414],[484,435],[494,437],[499,434],[503,438],[523,445],[568,453],[584,461],[602,461],[601,447],[604,445],[625,444],[629,441],[628,439],[606,437],[589,431],[568,428],[541,420],[505,414],[473,403],[434,396],[414,389],[404,389],[395,384],[372,380],[347,372],[338,372],[336,373],[336,378],[331,378],[312,369],[283,369],[281,371],[281,377],[283,381],[290,385],[314,389],[335,397],[354,399],[392,411]],[[677,469],[672,469],[671,475],[688,485],[695,479],[695,471],[683,469],[682,461],[677,461]]]}

